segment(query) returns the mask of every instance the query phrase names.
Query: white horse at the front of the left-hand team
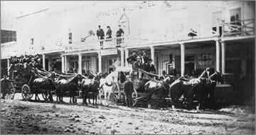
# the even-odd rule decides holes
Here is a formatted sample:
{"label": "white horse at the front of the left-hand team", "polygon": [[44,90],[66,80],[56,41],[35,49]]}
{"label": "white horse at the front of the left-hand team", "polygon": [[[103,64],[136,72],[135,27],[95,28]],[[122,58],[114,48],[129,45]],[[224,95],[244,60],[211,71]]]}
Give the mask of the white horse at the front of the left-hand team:
{"label": "white horse at the front of the left-hand team", "polygon": [[102,95],[104,94],[105,99],[107,99],[107,105],[110,101],[110,95],[112,93],[114,83],[117,83],[118,72],[111,72],[107,77],[100,79],[100,92],[99,92],[99,102],[102,104]]}

